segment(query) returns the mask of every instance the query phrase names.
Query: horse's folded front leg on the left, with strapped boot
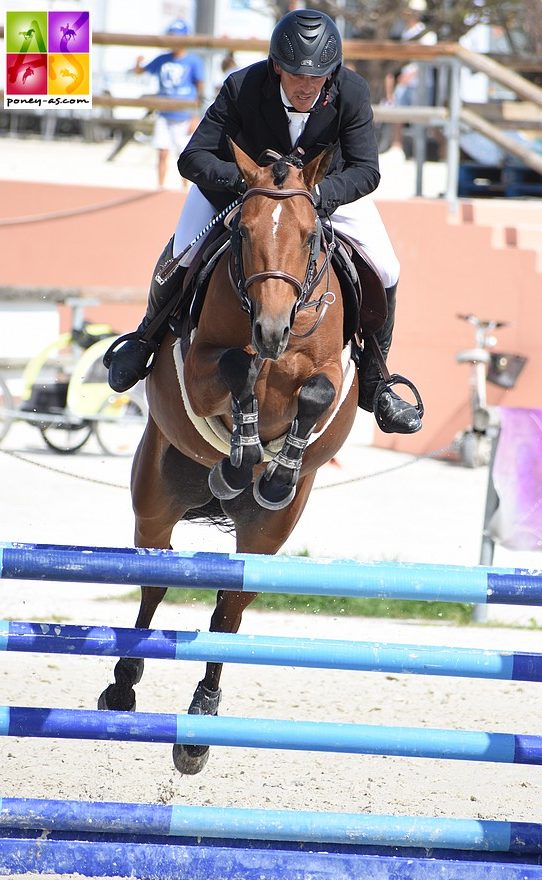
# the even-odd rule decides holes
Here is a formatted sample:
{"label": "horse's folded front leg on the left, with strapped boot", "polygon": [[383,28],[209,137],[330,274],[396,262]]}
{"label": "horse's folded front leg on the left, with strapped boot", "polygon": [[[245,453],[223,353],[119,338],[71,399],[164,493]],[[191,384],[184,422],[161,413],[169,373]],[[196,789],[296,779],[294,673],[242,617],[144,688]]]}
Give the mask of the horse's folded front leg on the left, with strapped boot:
{"label": "horse's folded front leg on the left, with strapped boot", "polygon": [[218,362],[219,375],[232,399],[230,457],[223,458],[209,474],[209,487],[216,498],[229,500],[252,482],[252,471],[263,459],[258,433],[258,401],[254,386],[262,361],[239,348],[224,352]]}

